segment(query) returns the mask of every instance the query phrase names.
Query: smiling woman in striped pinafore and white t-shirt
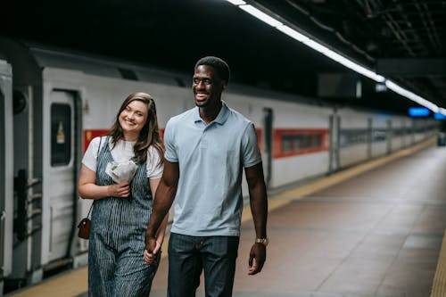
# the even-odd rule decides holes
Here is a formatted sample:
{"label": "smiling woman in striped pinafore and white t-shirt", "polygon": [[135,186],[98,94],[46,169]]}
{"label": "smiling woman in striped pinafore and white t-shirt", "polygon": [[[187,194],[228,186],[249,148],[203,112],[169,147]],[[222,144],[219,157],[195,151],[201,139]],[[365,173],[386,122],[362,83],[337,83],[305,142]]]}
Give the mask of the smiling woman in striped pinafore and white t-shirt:
{"label": "smiling woman in striped pinafore and white t-shirt", "polygon": [[[134,177],[113,182],[109,164],[129,160],[136,163]],[[163,161],[153,98],[145,93],[128,95],[111,132],[88,145],[80,169],[79,195],[95,200],[88,248],[89,296],[149,295],[158,261],[145,264],[145,228]],[[167,218],[158,230],[158,250],[166,225]]]}

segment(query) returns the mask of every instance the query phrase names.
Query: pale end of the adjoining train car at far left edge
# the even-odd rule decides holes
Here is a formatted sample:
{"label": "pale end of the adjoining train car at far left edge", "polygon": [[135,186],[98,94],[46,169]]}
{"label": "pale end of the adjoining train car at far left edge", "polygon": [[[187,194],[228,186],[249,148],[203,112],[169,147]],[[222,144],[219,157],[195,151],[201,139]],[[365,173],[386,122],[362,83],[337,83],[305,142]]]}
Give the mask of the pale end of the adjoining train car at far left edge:
{"label": "pale end of the adjoining train car at far left edge", "polygon": [[0,60],[0,296],[4,277],[12,270],[12,70]]}

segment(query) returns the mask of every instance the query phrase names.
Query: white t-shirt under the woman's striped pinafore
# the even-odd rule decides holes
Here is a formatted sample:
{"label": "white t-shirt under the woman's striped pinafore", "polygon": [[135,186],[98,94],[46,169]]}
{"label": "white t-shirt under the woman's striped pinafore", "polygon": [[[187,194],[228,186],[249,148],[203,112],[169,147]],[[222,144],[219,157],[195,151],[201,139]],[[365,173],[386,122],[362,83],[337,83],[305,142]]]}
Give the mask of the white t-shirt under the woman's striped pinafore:
{"label": "white t-shirt under the woman's striped pinafore", "polygon": [[[101,148],[103,148],[103,144],[105,144],[106,137],[103,136],[101,142]],[[87,166],[88,169],[96,172],[96,159],[97,159],[97,147],[100,143],[100,137],[95,137],[91,140],[90,144],[88,144],[88,148],[86,153],[84,154],[84,158],[82,159],[82,164]],[[113,157],[114,161],[128,161],[133,158],[133,145],[134,141],[125,141],[120,140],[111,150],[111,157]],[[111,137],[109,137],[109,145],[111,148]],[[149,146],[147,149],[147,161],[146,161],[146,170],[147,177],[151,179],[161,178],[163,165],[158,165],[160,161],[160,155],[158,151],[153,147]]]}

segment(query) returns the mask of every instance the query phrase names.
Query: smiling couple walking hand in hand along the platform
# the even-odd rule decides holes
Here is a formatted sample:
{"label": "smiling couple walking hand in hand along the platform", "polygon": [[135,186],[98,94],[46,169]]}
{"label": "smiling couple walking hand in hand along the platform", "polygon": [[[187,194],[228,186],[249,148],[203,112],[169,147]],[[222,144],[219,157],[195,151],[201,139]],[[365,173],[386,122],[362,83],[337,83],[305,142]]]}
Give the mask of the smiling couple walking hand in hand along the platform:
{"label": "smiling couple walking hand in hand along the platform", "polygon": [[89,296],[149,296],[172,204],[168,296],[194,296],[202,270],[206,296],[231,296],[242,168],[255,227],[248,274],[260,272],[268,244],[266,186],[252,121],[221,100],[229,77],[218,57],[196,62],[195,107],[168,121],[164,144],[153,98],[139,92],[122,103],[110,133],[88,145],[78,192],[94,200]]}

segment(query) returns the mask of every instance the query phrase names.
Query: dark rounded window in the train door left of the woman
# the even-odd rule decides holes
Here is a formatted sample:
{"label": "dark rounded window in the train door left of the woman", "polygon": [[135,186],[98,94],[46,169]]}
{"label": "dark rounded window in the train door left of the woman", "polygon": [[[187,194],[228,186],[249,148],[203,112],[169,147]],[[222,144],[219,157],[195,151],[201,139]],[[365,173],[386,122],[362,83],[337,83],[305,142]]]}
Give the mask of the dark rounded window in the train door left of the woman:
{"label": "dark rounded window in the train door left of the woman", "polygon": [[70,163],[71,156],[71,109],[70,105],[51,105],[51,166]]}

